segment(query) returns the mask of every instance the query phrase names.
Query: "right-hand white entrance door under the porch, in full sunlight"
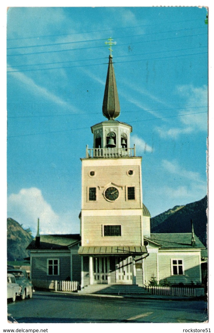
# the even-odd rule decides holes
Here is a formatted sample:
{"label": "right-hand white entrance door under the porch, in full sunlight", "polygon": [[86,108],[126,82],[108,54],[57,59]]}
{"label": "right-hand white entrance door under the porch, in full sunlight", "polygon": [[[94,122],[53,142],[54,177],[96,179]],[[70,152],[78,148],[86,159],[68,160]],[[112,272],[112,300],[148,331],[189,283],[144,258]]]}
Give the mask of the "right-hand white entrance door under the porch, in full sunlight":
{"label": "right-hand white entrance door under the porch, in full sunlight", "polygon": [[116,257],[116,283],[132,284],[132,257]]}

